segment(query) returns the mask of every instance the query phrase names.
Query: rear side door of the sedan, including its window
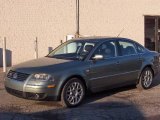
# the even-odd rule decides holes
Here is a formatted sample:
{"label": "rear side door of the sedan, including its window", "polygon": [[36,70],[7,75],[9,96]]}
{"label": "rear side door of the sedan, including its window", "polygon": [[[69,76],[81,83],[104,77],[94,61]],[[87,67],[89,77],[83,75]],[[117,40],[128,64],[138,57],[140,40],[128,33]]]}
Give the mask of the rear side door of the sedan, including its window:
{"label": "rear side door of the sedan, including its window", "polygon": [[118,49],[118,81],[126,84],[133,83],[137,80],[142,65],[135,44],[132,41],[119,40]]}

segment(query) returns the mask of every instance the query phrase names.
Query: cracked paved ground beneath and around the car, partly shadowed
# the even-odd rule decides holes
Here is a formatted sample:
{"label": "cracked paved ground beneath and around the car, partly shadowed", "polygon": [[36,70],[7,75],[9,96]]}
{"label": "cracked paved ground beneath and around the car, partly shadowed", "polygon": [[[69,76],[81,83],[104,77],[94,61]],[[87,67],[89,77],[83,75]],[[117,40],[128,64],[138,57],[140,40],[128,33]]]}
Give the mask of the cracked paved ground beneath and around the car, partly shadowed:
{"label": "cracked paved ground beneath and around the car, partly shadowed", "polygon": [[160,75],[149,90],[135,86],[92,94],[72,109],[59,102],[33,101],[9,95],[0,73],[0,120],[160,120]]}

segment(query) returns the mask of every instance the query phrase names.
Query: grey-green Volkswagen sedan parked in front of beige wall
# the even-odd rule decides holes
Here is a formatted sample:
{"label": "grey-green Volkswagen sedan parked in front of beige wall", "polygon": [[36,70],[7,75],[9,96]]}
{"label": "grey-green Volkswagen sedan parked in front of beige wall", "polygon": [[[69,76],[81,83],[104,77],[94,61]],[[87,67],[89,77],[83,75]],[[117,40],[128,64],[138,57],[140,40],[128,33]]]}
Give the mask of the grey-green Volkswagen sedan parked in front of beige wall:
{"label": "grey-green Volkswagen sedan parked in front of beige wall", "polygon": [[148,89],[159,68],[159,54],[126,38],[78,38],[43,58],[13,66],[5,88],[13,95],[79,105],[87,91],[135,84]]}

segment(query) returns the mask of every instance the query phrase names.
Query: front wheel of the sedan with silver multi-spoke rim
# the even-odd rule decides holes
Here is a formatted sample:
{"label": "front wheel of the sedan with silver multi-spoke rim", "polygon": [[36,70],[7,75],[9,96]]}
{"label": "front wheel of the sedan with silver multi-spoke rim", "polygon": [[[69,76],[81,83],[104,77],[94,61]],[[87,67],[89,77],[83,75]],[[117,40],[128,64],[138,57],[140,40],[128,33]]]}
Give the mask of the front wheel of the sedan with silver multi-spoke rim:
{"label": "front wheel of the sedan with silver multi-spoke rim", "polygon": [[85,86],[78,78],[72,78],[64,85],[61,93],[63,107],[76,107],[82,103],[85,96]]}

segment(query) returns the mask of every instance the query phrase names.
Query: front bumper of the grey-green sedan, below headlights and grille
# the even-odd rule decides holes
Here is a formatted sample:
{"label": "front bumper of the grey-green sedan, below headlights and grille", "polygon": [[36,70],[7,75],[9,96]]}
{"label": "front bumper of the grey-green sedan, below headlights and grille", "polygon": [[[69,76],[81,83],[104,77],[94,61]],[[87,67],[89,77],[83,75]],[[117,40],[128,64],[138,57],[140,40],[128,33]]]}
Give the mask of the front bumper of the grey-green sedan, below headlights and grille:
{"label": "front bumper of the grey-green sedan, below headlights and grille", "polygon": [[56,94],[56,87],[48,88],[48,83],[46,82],[41,85],[31,85],[28,83],[29,80],[17,81],[7,77],[5,78],[6,91],[12,95],[34,100],[42,100],[46,98],[58,100],[58,95]]}

